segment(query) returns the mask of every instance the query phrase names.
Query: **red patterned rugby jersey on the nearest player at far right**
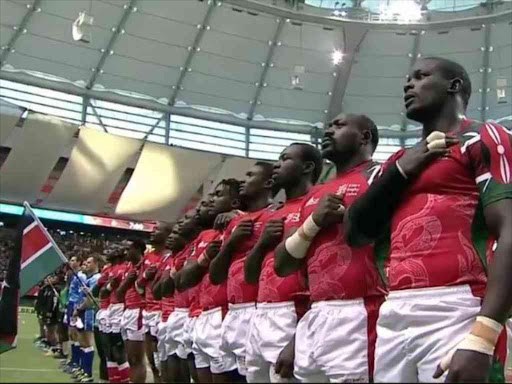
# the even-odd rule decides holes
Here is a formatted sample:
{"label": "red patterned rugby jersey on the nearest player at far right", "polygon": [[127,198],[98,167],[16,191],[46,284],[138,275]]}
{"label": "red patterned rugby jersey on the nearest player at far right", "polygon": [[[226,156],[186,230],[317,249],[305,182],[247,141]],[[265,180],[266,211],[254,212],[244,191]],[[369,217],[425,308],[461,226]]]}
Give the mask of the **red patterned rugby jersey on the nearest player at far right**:
{"label": "red patterned rugby jersey on the nearest player at far right", "polygon": [[459,144],[411,182],[393,214],[383,263],[390,290],[469,284],[485,293],[495,239],[483,208],[512,198],[512,134],[472,120],[448,133]]}

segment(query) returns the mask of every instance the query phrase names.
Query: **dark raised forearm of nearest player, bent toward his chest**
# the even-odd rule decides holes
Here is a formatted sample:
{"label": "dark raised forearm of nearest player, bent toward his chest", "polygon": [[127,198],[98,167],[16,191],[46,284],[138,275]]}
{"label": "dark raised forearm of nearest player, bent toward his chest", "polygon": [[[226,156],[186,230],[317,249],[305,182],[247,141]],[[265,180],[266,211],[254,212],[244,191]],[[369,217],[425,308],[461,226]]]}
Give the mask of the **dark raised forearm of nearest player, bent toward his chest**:
{"label": "dark raised forearm of nearest player, bent toward his chest", "polygon": [[345,240],[350,246],[374,241],[390,222],[409,180],[391,164],[345,213]]}

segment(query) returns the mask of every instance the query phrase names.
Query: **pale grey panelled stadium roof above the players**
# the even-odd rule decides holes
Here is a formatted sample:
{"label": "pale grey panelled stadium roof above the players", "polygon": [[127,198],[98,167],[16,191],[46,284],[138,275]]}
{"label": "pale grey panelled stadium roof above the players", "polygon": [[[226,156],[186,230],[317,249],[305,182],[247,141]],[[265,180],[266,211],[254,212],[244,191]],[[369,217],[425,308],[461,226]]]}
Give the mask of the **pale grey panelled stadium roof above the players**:
{"label": "pale grey panelled stadium roof above the players", "polygon": [[[406,138],[417,130],[402,113],[405,75],[435,55],[470,73],[469,117],[512,115],[511,1],[423,0],[421,18],[407,22],[384,18],[376,3],[2,0],[0,78],[297,132],[340,111],[366,113]],[[82,11],[94,17],[89,43],[71,36]]]}

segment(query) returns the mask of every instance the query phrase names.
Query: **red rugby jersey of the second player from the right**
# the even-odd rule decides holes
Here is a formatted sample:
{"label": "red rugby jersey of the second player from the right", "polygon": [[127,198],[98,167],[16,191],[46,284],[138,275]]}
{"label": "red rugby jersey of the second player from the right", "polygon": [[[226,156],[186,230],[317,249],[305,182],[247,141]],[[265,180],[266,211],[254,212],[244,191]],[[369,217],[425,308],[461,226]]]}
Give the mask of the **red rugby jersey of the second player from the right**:
{"label": "red rugby jersey of the second player from the right", "polygon": [[[303,201],[300,223],[328,193],[343,196],[343,204],[348,207],[367,190],[379,170],[378,164],[367,161],[314,187]],[[306,257],[311,301],[355,299],[386,292],[375,264],[373,245],[350,248],[341,223],[320,230]]]}

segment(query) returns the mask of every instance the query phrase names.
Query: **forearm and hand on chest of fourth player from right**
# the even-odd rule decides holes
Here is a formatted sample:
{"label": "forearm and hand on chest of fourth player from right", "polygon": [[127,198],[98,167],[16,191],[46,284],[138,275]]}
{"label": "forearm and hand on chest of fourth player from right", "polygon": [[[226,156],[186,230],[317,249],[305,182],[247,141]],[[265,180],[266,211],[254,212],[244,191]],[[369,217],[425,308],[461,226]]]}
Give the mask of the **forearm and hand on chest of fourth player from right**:
{"label": "forearm and hand on chest of fourth player from right", "polygon": [[210,281],[212,284],[219,285],[226,281],[233,253],[252,234],[253,226],[254,222],[252,220],[241,220],[235,227],[217,257],[210,263]]}

